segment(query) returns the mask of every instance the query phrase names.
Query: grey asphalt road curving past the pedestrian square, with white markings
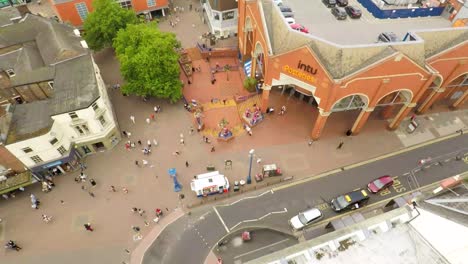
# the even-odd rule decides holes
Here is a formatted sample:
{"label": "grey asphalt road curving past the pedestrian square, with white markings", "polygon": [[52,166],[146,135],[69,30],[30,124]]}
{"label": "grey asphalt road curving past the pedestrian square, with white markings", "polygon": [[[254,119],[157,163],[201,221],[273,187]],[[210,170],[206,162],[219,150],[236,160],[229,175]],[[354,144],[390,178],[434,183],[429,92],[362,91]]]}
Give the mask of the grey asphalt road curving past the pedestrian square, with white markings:
{"label": "grey asphalt road curving past the pedestrian square, with white markings", "polygon": [[[278,188],[276,191],[249,193],[237,201],[201,208],[166,228],[146,252],[143,263],[186,263],[187,259],[191,263],[203,263],[210,249],[234,229],[252,223],[287,229],[287,220],[309,207],[323,210],[326,221],[338,215],[326,203],[331,198],[365,187],[369,181],[384,174],[392,175],[396,180],[395,184],[381,194],[372,195],[369,204],[401,195],[418,186],[467,171],[468,158],[461,161],[455,159],[460,154],[468,156],[468,135],[433,143],[299,185]],[[421,170],[419,161],[428,157],[432,158],[431,163],[426,163]]]}

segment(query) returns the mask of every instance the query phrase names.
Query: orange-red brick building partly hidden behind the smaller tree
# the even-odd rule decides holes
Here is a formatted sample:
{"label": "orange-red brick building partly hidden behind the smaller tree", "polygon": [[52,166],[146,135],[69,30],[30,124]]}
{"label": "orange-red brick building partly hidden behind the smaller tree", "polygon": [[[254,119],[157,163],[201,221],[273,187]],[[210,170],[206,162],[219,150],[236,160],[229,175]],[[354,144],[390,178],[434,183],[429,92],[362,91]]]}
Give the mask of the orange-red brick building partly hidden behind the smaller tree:
{"label": "orange-red brick building partly hidden behind the smaller tree", "polygon": [[[88,13],[93,11],[92,0],[49,0],[55,13],[64,22],[81,27]],[[133,9],[136,14],[145,14],[148,18],[160,12],[165,16],[168,0],[119,0],[122,8]]]}

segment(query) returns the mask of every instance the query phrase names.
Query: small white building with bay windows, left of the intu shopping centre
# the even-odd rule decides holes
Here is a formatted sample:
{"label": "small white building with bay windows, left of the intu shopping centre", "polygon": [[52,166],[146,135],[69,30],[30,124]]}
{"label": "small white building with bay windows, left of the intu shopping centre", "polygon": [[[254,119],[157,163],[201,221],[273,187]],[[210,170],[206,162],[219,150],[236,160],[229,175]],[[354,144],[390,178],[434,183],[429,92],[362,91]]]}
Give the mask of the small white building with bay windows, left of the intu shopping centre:
{"label": "small white building with bay windows, left of the intu shopping centre", "polygon": [[217,38],[237,36],[236,0],[207,0],[203,3],[203,13],[211,34]]}

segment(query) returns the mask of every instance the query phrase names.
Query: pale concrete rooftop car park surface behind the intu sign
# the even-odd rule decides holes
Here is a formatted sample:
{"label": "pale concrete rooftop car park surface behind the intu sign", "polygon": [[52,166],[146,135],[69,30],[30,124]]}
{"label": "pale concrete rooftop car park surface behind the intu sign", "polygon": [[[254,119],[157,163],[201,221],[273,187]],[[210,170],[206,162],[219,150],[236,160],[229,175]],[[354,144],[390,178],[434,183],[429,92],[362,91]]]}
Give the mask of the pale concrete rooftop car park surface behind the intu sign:
{"label": "pale concrete rooftop car park surface behind the intu sign", "polygon": [[362,11],[361,18],[337,20],[321,0],[283,0],[283,5],[291,7],[296,23],[310,34],[341,45],[375,43],[382,32],[395,32],[403,39],[409,31],[451,27],[444,17],[376,19],[357,0],[348,1]]}

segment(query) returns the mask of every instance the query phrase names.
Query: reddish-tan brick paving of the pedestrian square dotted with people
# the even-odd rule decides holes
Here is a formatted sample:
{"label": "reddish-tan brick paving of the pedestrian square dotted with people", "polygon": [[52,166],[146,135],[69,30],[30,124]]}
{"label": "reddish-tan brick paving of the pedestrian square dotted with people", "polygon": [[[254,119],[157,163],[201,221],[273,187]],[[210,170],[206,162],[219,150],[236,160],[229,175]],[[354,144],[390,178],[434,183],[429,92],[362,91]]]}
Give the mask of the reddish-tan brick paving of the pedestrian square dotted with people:
{"label": "reddish-tan brick paving of the pedestrian square dotted with people", "polygon": [[[195,16],[198,19],[196,14],[186,16]],[[182,21],[185,21],[185,14],[181,17]],[[164,23],[167,22],[162,22],[161,28]],[[187,23],[190,24],[188,21]],[[182,27],[179,27],[181,25],[178,24],[176,29],[181,29]],[[200,31],[203,32],[203,29]],[[186,33],[179,36],[197,34],[191,29]],[[190,43],[188,39],[183,42]],[[100,52],[96,54],[95,59],[107,84],[122,83],[118,74],[118,63],[113,58],[112,51]],[[234,72],[231,73],[234,76]],[[347,112],[331,115],[322,138],[309,147],[308,135],[316,118],[316,108],[296,98],[281,95],[278,91],[272,91],[271,105],[276,109],[286,105],[288,108],[286,115],[269,115],[264,122],[254,128],[252,137],[240,135],[229,143],[213,142],[216,152],[210,153],[210,146],[202,142],[201,135],[188,134],[193,119],[181,103],[169,104],[155,99],[143,102],[141,98],[124,97],[118,91],[109,91],[109,95],[114,104],[119,126],[122,130],[132,133],[131,140],[156,139],[159,146],[153,149],[150,156],[143,156],[138,147],[126,151],[122,141],[111,151],[87,157],[86,173],[98,183],[97,187],[92,189],[96,194],[94,198],[81,189],[81,184],[74,182],[76,174],[72,174],[59,176],[56,179],[57,187],[50,193],[42,193],[40,186],[34,185],[14,199],[2,200],[0,218],[3,218],[3,221],[0,223],[0,242],[4,243],[7,239],[17,240],[23,250],[0,252],[1,263],[100,264],[122,263],[122,261],[128,263],[130,255],[124,249],[133,252],[140,243],[142,245],[148,243],[147,241],[151,241],[153,236],[159,233],[157,229],[161,226],[151,221],[154,208],[163,208],[168,214],[173,211],[180,212],[178,208],[186,211],[188,206],[198,204],[201,200],[195,198],[190,191],[190,180],[193,175],[204,172],[208,164],[216,166],[228,176],[230,181],[245,179],[248,170],[248,150],[251,148],[255,148],[256,156],[263,159],[263,164],[277,163],[283,168],[286,176],[293,175],[297,180],[413,144],[403,142],[398,132],[385,130],[388,121],[381,120],[375,115],[371,116],[359,136],[345,137],[344,132],[352,125],[358,114]],[[209,103],[209,101],[203,102]],[[156,122],[148,125],[144,119],[152,113],[153,106],[157,104],[162,106],[163,112],[157,115]],[[232,115],[238,115],[237,108],[232,106],[231,102],[226,107],[213,106],[209,111],[219,109],[222,113],[231,108],[235,112]],[[136,117],[135,125],[131,123],[130,115]],[[433,128],[438,129],[440,133],[450,132],[449,130],[455,128],[452,126],[453,122],[443,120],[456,118],[462,122],[460,125],[466,127],[468,125],[466,117],[466,110],[433,115],[431,118],[434,122],[427,122],[425,130],[428,130],[428,133],[432,133]],[[218,118],[213,119],[218,122]],[[431,124],[437,124],[438,127],[431,127],[433,126]],[[443,128],[447,125],[450,127],[444,131]],[[185,146],[179,144],[180,133],[185,136]],[[341,150],[337,150],[336,146],[342,140],[344,146]],[[175,150],[181,151],[181,156],[172,155]],[[135,166],[134,161],[142,159],[147,159],[152,166],[145,168]],[[232,170],[224,170],[223,163],[226,159],[233,161]],[[185,167],[185,161],[189,161],[189,168]],[[254,173],[261,169],[261,165],[254,164]],[[185,199],[179,199],[178,193],[173,192],[172,181],[167,175],[167,169],[171,167],[178,170],[179,181],[183,186],[181,193],[185,195]],[[109,192],[110,185],[119,187],[119,192]],[[89,184],[86,186],[89,187]],[[255,184],[251,188],[253,186]],[[124,194],[120,190],[121,187],[128,188],[129,193]],[[42,205],[39,210],[30,207],[28,197],[30,193],[35,193],[41,200]],[[223,196],[218,196],[221,197]],[[64,200],[65,203],[62,205],[60,200]],[[132,213],[130,211],[132,207],[145,209],[146,218]],[[53,216],[53,222],[43,223],[41,219],[43,213]],[[150,224],[148,227],[144,224],[145,220]],[[93,224],[95,232],[84,230],[82,225],[86,222]],[[133,241],[132,225],[141,227],[142,241]],[[136,251],[139,252],[141,249],[138,248]]]}

